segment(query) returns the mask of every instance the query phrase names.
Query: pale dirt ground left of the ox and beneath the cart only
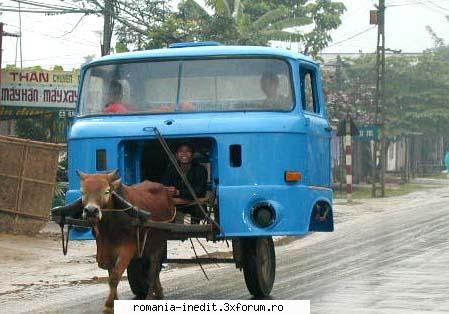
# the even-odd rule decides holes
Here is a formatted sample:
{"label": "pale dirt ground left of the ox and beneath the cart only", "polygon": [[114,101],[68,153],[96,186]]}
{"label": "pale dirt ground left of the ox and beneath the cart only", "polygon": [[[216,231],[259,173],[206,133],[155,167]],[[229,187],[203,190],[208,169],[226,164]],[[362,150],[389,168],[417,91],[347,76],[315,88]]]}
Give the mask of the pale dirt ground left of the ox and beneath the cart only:
{"label": "pale dirt ground left of the ox and beneath the cart only", "polygon": [[[205,250],[217,255],[230,252],[225,242],[201,240],[200,245],[197,241],[193,240],[193,244],[198,255],[205,255]],[[169,258],[194,257],[189,241],[170,241],[168,251]],[[0,234],[0,269],[3,270],[0,309],[6,306],[13,312],[21,312],[23,301],[34,299],[43,303],[48,296],[54,297],[57,290],[67,295],[68,289],[77,290],[86,285],[101,284],[101,289],[106,291],[107,271],[97,267],[95,252],[95,241],[70,241],[68,254],[64,256],[59,226],[51,223],[34,237]],[[164,272],[173,271],[169,268],[173,266]],[[122,290],[124,286],[129,289],[127,283],[122,283]]]}

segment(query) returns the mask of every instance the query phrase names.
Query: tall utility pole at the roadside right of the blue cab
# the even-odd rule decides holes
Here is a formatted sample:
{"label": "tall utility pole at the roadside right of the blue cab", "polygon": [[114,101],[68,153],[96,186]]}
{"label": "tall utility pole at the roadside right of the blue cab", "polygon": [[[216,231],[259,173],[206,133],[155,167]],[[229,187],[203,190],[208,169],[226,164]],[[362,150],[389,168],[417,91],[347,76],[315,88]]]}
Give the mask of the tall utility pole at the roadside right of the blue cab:
{"label": "tall utility pole at the roadside right of the blue cab", "polygon": [[[374,14],[373,14],[374,13]],[[374,18],[373,18],[374,17]],[[385,0],[379,0],[376,11],[371,12],[371,24],[377,24],[377,49],[376,49],[376,115],[375,124],[380,127],[380,139],[374,141],[373,149],[373,183],[371,194],[385,196]],[[379,165],[379,169],[377,166]],[[379,183],[380,186],[377,185]]]}

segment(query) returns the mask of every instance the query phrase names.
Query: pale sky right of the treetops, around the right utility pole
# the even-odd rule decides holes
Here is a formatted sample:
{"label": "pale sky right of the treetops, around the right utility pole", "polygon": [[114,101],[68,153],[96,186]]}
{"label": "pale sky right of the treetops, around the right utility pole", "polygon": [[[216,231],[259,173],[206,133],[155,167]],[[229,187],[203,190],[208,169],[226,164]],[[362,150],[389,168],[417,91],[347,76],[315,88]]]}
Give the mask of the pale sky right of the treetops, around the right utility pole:
{"label": "pale sky right of the treetops, around the right utility pole", "polygon": [[[374,52],[377,28],[369,24],[369,11],[378,0],[343,0],[347,11],[332,32],[333,43],[323,52]],[[433,46],[429,25],[449,43],[449,0],[385,0],[385,47],[402,52],[422,52]]]}

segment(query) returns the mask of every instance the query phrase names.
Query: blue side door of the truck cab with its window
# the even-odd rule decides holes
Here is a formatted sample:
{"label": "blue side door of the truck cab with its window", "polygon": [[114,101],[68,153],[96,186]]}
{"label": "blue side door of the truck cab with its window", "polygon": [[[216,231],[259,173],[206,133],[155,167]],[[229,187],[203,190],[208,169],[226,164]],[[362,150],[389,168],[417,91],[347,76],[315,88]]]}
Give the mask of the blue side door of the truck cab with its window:
{"label": "blue side door of the truck cab with its window", "polygon": [[327,120],[324,93],[318,67],[300,65],[301,100],[307,132],[307,172],[309,185],[331,186],[331,127]]}

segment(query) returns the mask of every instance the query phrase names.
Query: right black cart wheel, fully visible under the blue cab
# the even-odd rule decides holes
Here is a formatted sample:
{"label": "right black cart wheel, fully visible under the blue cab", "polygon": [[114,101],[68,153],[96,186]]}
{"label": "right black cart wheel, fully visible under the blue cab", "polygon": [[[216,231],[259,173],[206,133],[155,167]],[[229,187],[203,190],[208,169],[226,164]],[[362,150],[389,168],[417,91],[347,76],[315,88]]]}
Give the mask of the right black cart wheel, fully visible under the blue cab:
{"label": "right black cart wheel, fully visible under the blue cab", "polygon": [[273,239],[257,237],[240,241],[246,287],[256,298],[266,297],[273,289],[276,273]]}

